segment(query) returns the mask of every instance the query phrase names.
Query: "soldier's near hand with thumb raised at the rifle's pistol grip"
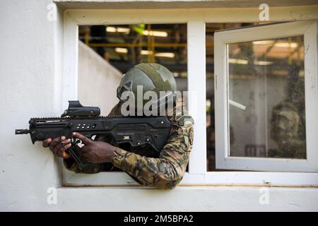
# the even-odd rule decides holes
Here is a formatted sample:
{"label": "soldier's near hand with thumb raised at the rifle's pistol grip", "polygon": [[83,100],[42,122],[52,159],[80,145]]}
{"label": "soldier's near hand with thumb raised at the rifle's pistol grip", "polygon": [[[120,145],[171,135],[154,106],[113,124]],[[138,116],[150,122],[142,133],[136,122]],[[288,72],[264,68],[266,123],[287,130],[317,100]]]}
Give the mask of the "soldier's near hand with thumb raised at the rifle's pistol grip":
{"label": "soldier's near hand with thumb raised at the rifle's pistol grip", "polygon": [[81,133],[73,133],[73,137],[80,139],[84,144],[81,148],[81,155],[86,162],[112,162],[115,150],[113,145],[104,141],[92,141]]}

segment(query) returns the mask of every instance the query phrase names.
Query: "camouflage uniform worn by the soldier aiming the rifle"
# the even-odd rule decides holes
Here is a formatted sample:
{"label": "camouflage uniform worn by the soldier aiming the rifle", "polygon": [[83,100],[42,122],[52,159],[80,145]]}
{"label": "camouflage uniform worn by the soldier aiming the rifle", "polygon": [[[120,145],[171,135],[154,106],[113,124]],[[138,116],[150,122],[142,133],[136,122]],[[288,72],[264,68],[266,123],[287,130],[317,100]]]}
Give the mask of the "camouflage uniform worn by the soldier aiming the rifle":
{"label": "camouflage uniform worn by the soldier aiming the rifle", "polygon": [[[110,116],[120,115],[120,105],[116,105]],[[114,151],[112,165],[128,173],[136,182],[144,186],[154,186],[160,189],[172,189],[182,180],[189,162],[192,150],[193,124],[192,117],[187,114],[173,114],[168,117],[172,123],[170,136],[160,153],[151,146],[124,149],[117,147]],[[105,141],[104,138],[98,138]],[[130,149],[127,151],[127,149]],[[78,169],[72,159],[64,160],[67,169],[80,173],[97,173],[110,171],[112,165],[87,164],[84,169]],[[116,170],[116,169],[115,169]]]}

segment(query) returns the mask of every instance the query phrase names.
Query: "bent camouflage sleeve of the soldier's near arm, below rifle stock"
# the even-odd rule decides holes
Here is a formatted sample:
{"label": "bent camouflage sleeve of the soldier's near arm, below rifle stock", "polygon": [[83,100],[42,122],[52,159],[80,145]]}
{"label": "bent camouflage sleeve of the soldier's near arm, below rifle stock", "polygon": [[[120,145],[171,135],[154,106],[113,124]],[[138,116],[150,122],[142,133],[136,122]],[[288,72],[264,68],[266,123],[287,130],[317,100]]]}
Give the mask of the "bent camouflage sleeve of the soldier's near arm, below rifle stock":
{"label": "bent camouflage sleeve of the soldier's near arm, below rifle stock", "polygon": [[176,117],[170,137],[158,158],[144,157],[117,148],[113,165],[145,186],[172,189],[182,180],[189,162],[193,142],[192,117]]}

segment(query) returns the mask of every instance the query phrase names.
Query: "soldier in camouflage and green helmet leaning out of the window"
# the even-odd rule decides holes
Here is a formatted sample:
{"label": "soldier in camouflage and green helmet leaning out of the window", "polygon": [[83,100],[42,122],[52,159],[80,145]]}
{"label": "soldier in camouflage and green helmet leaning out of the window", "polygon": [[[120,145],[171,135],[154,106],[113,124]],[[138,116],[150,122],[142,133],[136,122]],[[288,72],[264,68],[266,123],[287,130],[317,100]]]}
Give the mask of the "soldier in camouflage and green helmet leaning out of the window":
{"label": "soldier in camouflage and green helmet leaning out of the window", "polygon": [[[159,94],[160,91],[172,91],[170,95],[177,93],[175,78],[164,66],[138,64],[129,69],[122,77],[117,88],[119,103],[114,106],[110,116],[122,115],[121,107],[124,103],[122,93],[128,90],[136,97],[137,85],[143,85],[144,92],[154,91]],[[162,101],[162,98],[159,99],[158,105]],[[172,189],[179,184],[187,169],[194,136],[194,121],[189,115],[176,111],[176,107],[179,105],[183,105],[182,101],[175,103],[173,112],[168,112],[168,110],[165,112],[172,126],[167,143],[160,153],[149,145],[137,148],[124,145],[115,147],[113,144],[107,143],[105,137],[98,137],[92,141],[80,133],[73,133],[73,137],[80,139],[84,144],[79,151],[81,157],[86,162],[90,162],[83,169],[78,169],[76,162],[66,153],[66,150],[71,147],[71,140],[65,137],[48,138],[43,141],[43,147],[49,147],[52,153],[64,158],[64,166],[74,172],[93,174],[121,169],[144,186]]]}

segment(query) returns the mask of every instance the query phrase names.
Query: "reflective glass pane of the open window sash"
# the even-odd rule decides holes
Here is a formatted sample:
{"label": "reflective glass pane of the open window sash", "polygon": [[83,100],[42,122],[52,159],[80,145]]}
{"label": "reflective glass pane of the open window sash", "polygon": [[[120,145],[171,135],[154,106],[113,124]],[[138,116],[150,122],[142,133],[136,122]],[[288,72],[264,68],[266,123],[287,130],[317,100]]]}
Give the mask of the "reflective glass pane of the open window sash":
{"label": "reflective glass pane of the open window sash", "polygon": [[305,159],[303,36],[228,44],[230,156]]}

